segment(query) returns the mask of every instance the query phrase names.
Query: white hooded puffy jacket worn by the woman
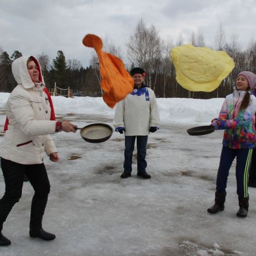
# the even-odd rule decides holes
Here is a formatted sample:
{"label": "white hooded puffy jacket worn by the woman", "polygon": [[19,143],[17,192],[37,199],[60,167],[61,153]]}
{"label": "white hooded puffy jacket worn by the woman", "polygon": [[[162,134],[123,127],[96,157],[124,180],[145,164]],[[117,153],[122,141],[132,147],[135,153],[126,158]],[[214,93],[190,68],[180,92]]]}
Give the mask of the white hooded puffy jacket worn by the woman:
{"label": "white hooded puffy jacket worn by the woman", "polygon": [[[20,164],[39,164],[45,152],[48,156],[57,152],[49,135],[55,133],[56,121],[50,120],[51,107],[43,91],[44,84],[35,86],[29,76],[29,57],[17,58],[12,63],[12,73],[18,85],[7,101],[9,125],[0,144],[0,157]],[[40,69],[38,61],[36,65]]]}

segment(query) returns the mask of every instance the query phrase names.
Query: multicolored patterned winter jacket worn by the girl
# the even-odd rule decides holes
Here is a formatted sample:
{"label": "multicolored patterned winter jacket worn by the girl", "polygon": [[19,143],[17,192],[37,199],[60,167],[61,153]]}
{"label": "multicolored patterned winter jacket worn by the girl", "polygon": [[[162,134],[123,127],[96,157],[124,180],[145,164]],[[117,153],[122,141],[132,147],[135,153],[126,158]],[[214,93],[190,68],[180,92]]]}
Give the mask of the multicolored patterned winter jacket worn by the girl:
{"label": "multicolored patterned winter jacket worn by the girl", "polygon": [[224,131],[224,146],[238,150],[256,146],[255,111],[256,98],[250,95],[250,103],[245,110],[239,111],[240,104],[246,92],[237,91],[226,96],[217,121],[220,130]]}

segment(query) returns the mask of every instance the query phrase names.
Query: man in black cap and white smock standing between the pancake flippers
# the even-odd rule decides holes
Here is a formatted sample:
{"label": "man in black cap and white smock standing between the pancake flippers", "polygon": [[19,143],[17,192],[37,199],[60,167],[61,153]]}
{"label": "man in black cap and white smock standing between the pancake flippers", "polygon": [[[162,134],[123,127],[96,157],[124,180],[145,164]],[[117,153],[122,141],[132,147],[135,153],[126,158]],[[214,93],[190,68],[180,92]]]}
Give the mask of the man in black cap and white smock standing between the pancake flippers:
{"label": "man in black cap and white smock standing between the pancake flippers", "polygon": [[147,136],[159,129],[159,111],[153,90],[144,85],[145,71],[141,68],[131,70],[134,90],[116,105],[113,125],[115,130],[125,136],[124,164],[121,178],[132,173],[132,158],[137,137],[137,176],[149,179],[146,173]]}

